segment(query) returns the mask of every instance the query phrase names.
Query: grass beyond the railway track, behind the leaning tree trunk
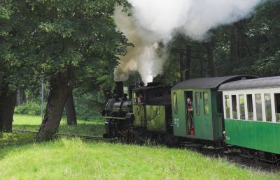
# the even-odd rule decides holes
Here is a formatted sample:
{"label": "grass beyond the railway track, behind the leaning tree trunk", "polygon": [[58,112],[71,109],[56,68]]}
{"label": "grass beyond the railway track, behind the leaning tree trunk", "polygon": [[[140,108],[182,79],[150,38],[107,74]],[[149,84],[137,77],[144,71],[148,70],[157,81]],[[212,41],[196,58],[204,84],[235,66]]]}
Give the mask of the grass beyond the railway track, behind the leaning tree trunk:
{"label": "grass beyond the railway track, behind the leaning tree trunk", "polygon": [[[13,122],[13,130],[39,130],[41,126],[41,117],[15,114]],[[62,118],[59,126],[59,133],[73,135],[93,135],[102,137],[104,133],[104,119],[97,117],[84,121],[77,120],[77,126],[68,126],[66,119]]]}

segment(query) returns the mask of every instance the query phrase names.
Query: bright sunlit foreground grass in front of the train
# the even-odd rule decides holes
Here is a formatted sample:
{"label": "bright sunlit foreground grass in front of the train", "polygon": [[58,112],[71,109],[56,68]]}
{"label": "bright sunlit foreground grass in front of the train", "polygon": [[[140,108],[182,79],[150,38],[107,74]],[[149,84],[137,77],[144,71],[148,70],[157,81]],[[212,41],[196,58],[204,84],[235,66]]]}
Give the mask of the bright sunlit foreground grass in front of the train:
{"label": "bright sunlit foreground grass in front of the train", "polygon": [[280,179],[186,149],[2,134],[0,179]]}

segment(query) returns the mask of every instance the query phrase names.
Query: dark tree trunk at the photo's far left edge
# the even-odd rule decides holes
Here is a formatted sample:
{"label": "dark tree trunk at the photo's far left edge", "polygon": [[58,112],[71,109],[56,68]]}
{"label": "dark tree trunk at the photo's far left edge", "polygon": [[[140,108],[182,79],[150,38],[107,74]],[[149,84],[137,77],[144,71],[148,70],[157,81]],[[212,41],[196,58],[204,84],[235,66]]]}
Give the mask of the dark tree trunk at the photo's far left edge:
{"label": "dark tree trunk at the photo's far left edge", "polygon": [[8,86],[1,90],[0,132],[10,132],[12,131],[13,112],[15,110],[15,101],[17,100],[17,91],[8,91]]}

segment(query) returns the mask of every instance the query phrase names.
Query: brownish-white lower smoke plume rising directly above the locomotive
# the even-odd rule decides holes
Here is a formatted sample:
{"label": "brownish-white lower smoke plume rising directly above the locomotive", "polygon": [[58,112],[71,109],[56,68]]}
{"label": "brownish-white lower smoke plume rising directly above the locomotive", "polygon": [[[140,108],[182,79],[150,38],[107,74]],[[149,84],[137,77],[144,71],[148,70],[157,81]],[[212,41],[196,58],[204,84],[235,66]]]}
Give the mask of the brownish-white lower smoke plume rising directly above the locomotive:
{"label": "brownish-white lower smoke plume rising directly above the locomotive", "polygon": [[126,81],[131,72],[138,71],[142,80],[153,82],[153,77],[162,73],[164,59],[156,53],[158,38],[153,32],[137,27],[133,17],[117,8],[114,14],[118,29],[122,31],[134,47],[127,48],[127,55],[120,57],[120,65],[116,67],[115,81]]}

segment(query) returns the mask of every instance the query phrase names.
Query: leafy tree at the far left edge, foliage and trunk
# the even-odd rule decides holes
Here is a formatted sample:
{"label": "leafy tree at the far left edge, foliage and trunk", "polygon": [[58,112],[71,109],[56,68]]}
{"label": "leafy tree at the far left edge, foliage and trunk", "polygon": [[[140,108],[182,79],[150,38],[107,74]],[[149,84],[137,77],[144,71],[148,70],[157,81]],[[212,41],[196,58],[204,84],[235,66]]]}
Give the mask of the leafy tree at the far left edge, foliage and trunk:
{"label": "leafy tree at the far left edge, foliage and trunk", "polygon": [[36,70],[29,56],[33,22],[22,1],[0,2],[0,131],[12,129],[16,91],[28,84]]}

